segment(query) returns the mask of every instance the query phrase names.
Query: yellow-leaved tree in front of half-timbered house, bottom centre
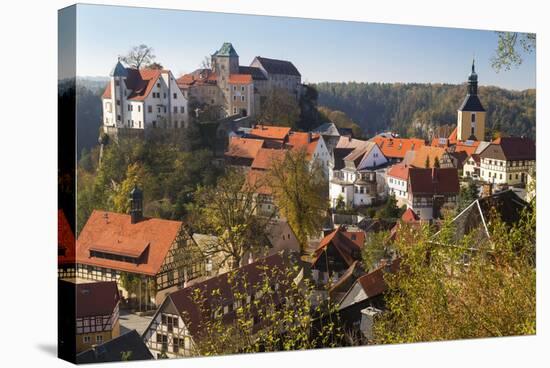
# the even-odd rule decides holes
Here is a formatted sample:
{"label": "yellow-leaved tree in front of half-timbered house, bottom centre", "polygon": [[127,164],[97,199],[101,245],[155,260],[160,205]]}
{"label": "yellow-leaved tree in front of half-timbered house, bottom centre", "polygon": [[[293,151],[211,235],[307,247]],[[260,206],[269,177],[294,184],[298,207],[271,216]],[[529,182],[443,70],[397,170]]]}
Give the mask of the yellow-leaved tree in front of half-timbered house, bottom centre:
{"label": "yellow-leaved tree in front of half-timbered house, bottom centre", "polygon": [[[260,268],[257,280],[239,277],[236,271],[228,274],[231,291],[224,298],[236,305],[231,320],[224,316],[222,303],[208,303],[204,290],[200,287],[193,290],[192,302],[204,321],[194,341],[196,355],[342,346],[343,331],[336,304],[330,299],[312,304],[316,291],[309,279],[302,278],[298,267],[257,267]],[[253,299],[247,299],[250,290],[255,291]],[[221,296],[220,290],[213,290],[212,295],[214,298],[210,300],[216,300],[216,296]],[[255,326],[254,321],[261,321],[261,327]]]}

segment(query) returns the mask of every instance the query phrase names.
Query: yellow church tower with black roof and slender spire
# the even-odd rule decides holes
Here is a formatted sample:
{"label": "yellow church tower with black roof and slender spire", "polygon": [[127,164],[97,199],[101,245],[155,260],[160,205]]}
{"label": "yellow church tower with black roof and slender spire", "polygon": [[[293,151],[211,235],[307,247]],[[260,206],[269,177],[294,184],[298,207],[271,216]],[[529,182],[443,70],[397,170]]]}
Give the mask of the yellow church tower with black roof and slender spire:
{"label": "yellow church tower with black roof and slender spire", "polygon": [[460,141],[485,139],[485,109],[477,96],[477,74],[474,61],[468,77],[468,94],[458,108],[457,139]]}

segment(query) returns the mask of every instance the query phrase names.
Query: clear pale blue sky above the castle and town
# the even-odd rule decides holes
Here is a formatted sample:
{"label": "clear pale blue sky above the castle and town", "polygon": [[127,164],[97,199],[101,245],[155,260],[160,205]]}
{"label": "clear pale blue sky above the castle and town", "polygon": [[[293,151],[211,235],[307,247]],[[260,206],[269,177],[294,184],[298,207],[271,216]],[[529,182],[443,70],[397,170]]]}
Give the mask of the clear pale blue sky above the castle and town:
{"label": "clear pale blue sky above the castle and town", "polygon": [[511,71],[491,68],[494,31],[103,5],[78,5],[76,29],[79,76],[108,76],[119,55],[146,44],[179,77],[227,41],[241,65],[255,56],[289,60],[306,83],[460,84],[475,57],[481,85],[536,86],[535,53]]}

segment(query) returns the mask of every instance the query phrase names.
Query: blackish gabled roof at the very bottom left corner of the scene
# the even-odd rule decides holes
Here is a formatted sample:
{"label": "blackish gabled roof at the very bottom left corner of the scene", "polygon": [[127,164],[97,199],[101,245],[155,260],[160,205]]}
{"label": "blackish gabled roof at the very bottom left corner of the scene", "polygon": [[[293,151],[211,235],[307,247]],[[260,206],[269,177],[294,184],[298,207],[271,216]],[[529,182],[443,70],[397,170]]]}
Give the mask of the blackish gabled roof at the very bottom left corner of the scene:
{"label": "blackish gabled roof at the very bottom left corner of the scene", "polygon": [[77,364],[120,362],[122,355],[131,352],[130,360],[151,360],[153,355],[136,330],[128,331],[112,340],[85,350],[76,356]]}

